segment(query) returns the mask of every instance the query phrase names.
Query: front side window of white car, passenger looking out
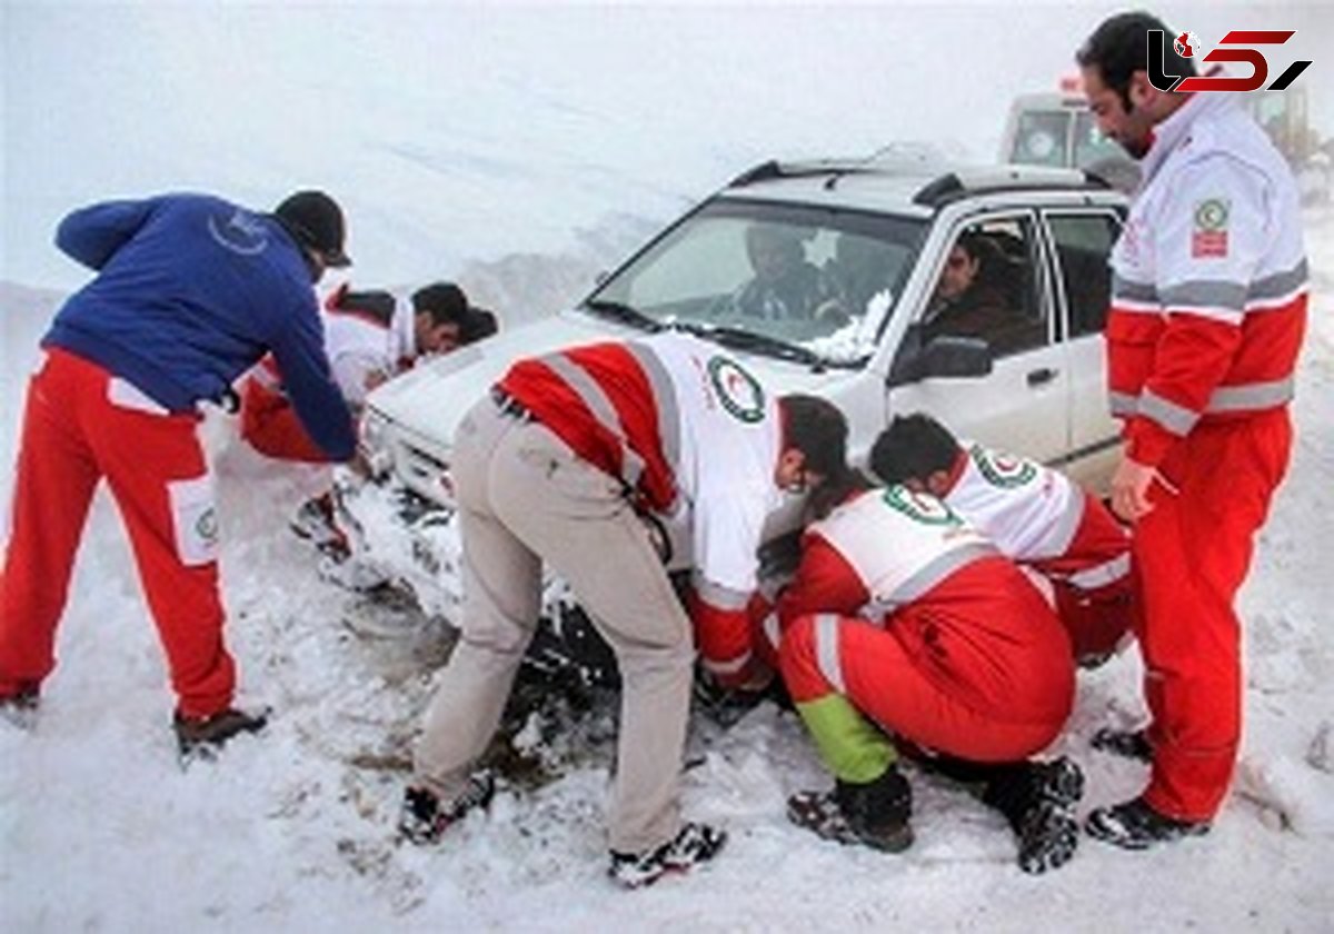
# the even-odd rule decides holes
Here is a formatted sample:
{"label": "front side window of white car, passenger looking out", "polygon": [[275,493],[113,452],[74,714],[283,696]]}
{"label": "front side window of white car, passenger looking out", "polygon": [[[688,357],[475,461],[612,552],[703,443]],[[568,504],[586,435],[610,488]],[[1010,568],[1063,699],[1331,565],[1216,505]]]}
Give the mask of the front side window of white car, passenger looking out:
{"label": "front side window of white car, passenger looking out", "polygon": [[963,228],[950,244],[923,314],[923,339],[986,340],[1009,356],[1049,340],[1030,217],[988,219]]}

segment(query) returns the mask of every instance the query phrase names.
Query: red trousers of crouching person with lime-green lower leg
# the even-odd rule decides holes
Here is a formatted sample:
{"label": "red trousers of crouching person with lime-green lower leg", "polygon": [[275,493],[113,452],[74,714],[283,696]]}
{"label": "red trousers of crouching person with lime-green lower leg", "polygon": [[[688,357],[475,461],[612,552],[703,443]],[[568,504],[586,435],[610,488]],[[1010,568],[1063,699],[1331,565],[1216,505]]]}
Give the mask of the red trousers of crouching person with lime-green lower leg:
{"label": "red trousers of crouching person with lime-green lower leg", "polygon": [[999,558],[955,571],[883,627],[802,616],[783,634],[779,659],[795,702],[838,691],[895,737],[972,762],[1033,755],[1074,705],[1061,622]]}

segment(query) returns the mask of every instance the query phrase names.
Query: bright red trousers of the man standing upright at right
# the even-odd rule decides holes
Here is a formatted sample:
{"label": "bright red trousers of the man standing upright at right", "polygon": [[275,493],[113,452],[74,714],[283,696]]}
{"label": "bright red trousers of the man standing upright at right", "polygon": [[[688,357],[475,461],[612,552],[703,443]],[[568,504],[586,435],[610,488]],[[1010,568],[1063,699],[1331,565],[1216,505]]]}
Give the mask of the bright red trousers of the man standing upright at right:
{"label": "bright red trousers of the man standing upright at right", "polygon": [[1155,484],[1154,510],[1135,527],[1154,747],[1145,798],[1173,818],[1213,818],[1231,782],[1242,719],[1233,600],[1291,444],[1286,408],[1197,426],[1161,466],[1181,492]]}

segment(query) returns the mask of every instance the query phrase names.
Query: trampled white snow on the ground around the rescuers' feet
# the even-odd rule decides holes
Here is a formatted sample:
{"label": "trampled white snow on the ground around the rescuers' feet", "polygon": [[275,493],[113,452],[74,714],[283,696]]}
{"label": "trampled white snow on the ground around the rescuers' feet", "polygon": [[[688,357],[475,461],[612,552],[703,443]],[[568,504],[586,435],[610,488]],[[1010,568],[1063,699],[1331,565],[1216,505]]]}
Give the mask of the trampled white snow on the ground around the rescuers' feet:
{"label": "trampled white snow on the ground around the rescuers' feet", "polygon": [[[1329,930],[1334,219],[1310,228],[1301,443],[1242,595],[1245,755],[1210,837],[1145,855],[1085,841],[1069,866],[1030,878],[995,815],[919,779],[912,850],[839,849],[786,823],[784,795],[824,779],[799,723],[764,706],[692,738],[687,810],[732,839],[687,878],[638,894],[604,881],[606,743],[538,791],[502,794],[440,847],[400,846],[400,769],[440,632],[355,634],[364,607],[317,580],[284,528],[309,479],[260,462],[217,420],[231,640],[243,699],[272,705],[273,723],[215,766],[177,767],[157,644],[100,499],[37,730],[0,726],[0,929]],[[7,291],[8,323],[40,322],[52,298]],[[1142,779],[1087,745],[1099,725],[1139,717],[1137,676],[1131,654],[1082,680],[1059,751],[1091,779],[1086,806]]]}

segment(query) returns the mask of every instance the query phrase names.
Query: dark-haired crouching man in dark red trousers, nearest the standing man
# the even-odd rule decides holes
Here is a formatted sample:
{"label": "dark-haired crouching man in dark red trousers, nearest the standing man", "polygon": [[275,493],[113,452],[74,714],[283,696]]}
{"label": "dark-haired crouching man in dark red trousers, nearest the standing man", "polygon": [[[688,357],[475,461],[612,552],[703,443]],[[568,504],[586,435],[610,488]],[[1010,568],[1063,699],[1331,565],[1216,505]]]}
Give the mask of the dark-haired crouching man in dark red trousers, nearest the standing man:
{"label": "dark-haired crouching man in dark red trousers, nearest the standing man", "polygon": [[958,442],[930,415],[896,416],[871,448],[871,472],[931,492],[1000,554],[1050,584],[1075,658],[1106,658],[1135,612],[1130,536],[1070,478],[1026,458]]}

